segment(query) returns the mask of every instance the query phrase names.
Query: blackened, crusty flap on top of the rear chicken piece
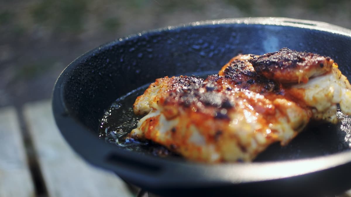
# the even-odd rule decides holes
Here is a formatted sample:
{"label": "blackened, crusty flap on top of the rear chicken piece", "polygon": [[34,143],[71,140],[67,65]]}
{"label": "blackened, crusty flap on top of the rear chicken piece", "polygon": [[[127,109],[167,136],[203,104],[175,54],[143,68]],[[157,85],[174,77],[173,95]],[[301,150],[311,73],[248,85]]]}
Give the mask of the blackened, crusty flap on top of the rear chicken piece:
{"label": "blackened, crusty flap on top of the rear chicken piece", "polygon": [[330,71],[333,62],[330,57],[288,48],[259,57],[253,56],[251,60],[258,74],[282,83],[307,83],[310,77]]}

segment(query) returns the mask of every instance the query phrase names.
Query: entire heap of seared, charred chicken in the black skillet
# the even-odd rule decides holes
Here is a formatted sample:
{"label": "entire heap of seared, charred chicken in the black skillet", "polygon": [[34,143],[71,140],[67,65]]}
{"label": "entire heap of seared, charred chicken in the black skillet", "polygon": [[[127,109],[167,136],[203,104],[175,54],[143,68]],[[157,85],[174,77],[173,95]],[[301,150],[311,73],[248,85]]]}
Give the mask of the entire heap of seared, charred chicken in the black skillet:
{"label": "entire heap of seared, charred chicken in the black skillet", "polygon": [[193,161],[251,161],[273,142],[289,142],[311,118],[335,123],[337,103],[351,114],[350,89],[329,57],[290,49],[238,55],[206,80],[157,79],[134,103],[135,114],[147,115],[129,137]]}

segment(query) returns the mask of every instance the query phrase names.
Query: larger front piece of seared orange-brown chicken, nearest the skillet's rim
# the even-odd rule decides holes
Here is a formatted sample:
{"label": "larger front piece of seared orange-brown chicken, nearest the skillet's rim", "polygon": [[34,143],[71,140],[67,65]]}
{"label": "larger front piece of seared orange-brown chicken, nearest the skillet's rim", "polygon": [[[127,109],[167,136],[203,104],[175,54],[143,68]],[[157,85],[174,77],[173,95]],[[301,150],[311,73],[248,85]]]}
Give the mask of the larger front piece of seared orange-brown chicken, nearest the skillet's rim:
{"label": "larger front piece of seared orange-brown chicken, nearest the skillet's rim", "polygon": [[224,78],[157,79],[134,105],[137,114],[148,114],[130,137],[152,140],[193,161],[251,161],[273,142],[287,143],[307,124],[308,111],[295,103],[218,85]]}

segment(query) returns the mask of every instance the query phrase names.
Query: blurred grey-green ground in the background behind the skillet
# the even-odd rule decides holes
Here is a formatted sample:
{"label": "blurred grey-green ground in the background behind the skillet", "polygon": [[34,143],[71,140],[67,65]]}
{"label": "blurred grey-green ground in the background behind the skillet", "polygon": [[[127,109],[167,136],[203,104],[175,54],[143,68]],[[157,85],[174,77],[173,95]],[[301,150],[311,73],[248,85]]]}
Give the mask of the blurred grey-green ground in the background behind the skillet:
{"label": "blurred grey-green ground in the background behind the skillet", "polygon": [[51,96],[60,72],[102,43],[206,19],[281,16],[351,28],[350,0],[0,0],[0,107]]}

